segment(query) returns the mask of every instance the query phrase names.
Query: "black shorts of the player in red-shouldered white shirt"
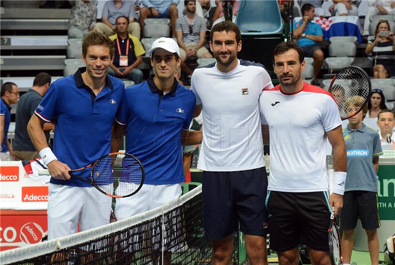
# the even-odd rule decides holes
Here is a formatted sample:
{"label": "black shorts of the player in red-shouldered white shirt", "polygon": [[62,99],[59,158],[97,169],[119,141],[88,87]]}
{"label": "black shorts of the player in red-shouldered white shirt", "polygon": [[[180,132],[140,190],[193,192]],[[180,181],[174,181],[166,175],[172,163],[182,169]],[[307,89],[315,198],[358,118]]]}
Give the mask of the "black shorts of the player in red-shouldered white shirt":
{"label": "black shorts of the player in red-shouldered white shirt", "polygon": [[330,211],[326,192],[271,190],[266,204],[270,249],[282,252],[304,244],[314,250],[328,251]]}

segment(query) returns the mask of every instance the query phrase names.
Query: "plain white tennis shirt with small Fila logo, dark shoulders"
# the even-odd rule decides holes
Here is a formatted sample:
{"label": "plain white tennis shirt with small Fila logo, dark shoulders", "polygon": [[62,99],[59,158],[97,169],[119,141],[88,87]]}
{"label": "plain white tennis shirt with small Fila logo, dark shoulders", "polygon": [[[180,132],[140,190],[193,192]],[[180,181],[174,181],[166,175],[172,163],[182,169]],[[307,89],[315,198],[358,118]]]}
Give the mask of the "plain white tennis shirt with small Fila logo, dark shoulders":
{"label": "plain white tennis shirt with small Fila logo, dark shoulders", "polygon": [[265,166],[259,96],[272,88],[261,64],[238,60],[222,73],[216,63],[194,71],[191,90],[202,104],[203,142],[197,168],[241,171]]}

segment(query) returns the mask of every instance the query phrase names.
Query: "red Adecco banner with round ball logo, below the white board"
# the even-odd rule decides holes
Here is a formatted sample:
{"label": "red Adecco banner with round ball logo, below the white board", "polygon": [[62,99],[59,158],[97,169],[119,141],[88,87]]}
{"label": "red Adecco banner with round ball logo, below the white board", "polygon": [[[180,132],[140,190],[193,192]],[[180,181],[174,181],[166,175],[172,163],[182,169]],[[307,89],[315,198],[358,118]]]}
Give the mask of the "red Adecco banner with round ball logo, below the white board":
{"label": "red Adecco banner with round ball logo, below the white board", "polygon": [[0,251],[36,244],[46,234],[46,215],[1,215]]}

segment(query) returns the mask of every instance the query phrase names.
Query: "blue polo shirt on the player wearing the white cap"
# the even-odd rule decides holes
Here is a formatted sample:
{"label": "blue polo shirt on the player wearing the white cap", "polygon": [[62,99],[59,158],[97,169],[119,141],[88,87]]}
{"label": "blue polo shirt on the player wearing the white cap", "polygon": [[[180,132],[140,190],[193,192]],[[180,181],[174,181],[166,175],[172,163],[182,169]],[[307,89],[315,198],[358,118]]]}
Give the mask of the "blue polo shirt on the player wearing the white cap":
{"label": "blue polo shirt on the player wearing the white cap", "polygon": [[185,181],[182,165],[181,130],[188,130],[196,98],[178,84],[163,95],[153,76],[127,87],[117,122],[126,127],[126,152],[140,159],[145,184],[176,184]]}

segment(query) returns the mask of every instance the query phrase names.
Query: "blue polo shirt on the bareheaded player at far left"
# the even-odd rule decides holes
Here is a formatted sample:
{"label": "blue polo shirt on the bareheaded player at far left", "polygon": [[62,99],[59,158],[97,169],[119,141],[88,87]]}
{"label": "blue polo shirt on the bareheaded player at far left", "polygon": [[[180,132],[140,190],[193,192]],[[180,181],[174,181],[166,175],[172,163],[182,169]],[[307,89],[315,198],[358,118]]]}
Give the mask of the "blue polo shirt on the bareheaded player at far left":
{"label": "blue polo shirt on the bareheaded player at far left", "polygon": [[[53,152],[71,169],[84,167],[110,153],[111,128],[124,94],[123,82],[112,76],[97,96],[82,79],[85,67],[74,76],[51,84],[35,114],[43,121],[55,118]],[[80,171],[90,179],[90,168]],[[78,178],[63,181],[51,178],[50,183],[88,187]]]}

